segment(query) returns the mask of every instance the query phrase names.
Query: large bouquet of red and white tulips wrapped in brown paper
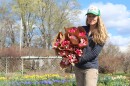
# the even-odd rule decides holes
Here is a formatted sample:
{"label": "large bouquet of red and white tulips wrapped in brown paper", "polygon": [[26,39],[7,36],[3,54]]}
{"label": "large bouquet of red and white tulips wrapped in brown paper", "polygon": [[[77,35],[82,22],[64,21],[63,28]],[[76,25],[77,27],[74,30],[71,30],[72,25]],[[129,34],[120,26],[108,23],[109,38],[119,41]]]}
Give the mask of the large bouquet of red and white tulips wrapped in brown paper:
{"label": "large bouquet of red and white tulips wrapped in brown paper", "polygon": [[65,34],[59,32],[54,39],[53,49],[62,57],[61,68],[78,63],[83,54],[83,48],[88,45],[86,31],[83,27],[64,28]]}

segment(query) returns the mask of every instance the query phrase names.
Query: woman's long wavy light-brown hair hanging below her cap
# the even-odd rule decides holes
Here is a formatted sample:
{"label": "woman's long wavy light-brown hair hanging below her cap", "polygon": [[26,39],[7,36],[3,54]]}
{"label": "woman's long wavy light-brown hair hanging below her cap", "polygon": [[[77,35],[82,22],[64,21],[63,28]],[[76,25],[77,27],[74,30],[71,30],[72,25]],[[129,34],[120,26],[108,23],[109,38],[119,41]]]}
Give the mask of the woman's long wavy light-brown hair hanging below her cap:
{"label": "woman's long wavy light-brown hair hanging below her cap", "polygon": [[[88,19],[86,19],[86,25],[89,25],[87,20]],[[98,16],[97,25],[95,28],[96,29],[92,32],[93,41],[98,44],[105,43],[108,38],[108,33],[100,16]]]}

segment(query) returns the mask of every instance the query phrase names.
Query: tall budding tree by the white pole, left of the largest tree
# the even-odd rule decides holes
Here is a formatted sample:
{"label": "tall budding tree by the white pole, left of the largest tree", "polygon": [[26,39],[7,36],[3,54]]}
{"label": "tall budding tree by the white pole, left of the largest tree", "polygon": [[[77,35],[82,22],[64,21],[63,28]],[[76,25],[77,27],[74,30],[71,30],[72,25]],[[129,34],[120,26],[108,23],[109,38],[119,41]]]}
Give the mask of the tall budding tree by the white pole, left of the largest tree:
{"label": "tall budding tree by the white pole, left of the largest tree", "polygon": [[[35,24],[35,5],[32,0],[15,0],[13,2],[13,12],[17,14],[23,27],[23,47],[29,47],[33,37],[33,25]],[[21,27],[20,27],[21,28]]]}

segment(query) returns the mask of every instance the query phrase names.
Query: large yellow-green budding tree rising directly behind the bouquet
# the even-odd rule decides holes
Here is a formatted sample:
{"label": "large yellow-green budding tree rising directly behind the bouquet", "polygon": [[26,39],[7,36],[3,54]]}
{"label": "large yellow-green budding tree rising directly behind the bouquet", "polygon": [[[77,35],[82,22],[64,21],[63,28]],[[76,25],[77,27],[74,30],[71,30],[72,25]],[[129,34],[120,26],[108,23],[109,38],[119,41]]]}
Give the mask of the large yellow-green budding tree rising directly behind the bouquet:
{"label": "large yellow-green budding tree rising directly behind the bouquet", "polygon": [[54,34],[59,30],[63,30],[65,26],[69,27],[70,24],[72,25],[72,16],[70,16],[70,14],[75,12],[75,15],[73,15],[75,17],[78,14],[76,13],[77,9],[74,8],[77,6],[74,4],[77,3],[76,1],[61,0],[60,2],[61,3],[57,2],[57,0],[42,0],[39,4],[38,19],[41,22],[38,22],[38,27],[42,34],[42,46],[46,47],[46,49],[51,48]]}

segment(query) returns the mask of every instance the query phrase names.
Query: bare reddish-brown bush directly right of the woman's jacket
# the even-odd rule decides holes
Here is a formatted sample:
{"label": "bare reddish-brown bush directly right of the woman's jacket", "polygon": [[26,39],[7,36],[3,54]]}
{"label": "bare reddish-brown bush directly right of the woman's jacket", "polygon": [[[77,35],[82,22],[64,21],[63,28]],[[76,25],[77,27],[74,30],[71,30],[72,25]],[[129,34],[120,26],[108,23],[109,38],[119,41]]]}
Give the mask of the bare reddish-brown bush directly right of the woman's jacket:
{"label": "bare reddish-brown bush directly right of the woman's jacket", "polygon": [[122,53],[118,46],[111,43],[106,44],[99,57],[101,72],[113,73],[122,68],[124,59],[121,56]]}

